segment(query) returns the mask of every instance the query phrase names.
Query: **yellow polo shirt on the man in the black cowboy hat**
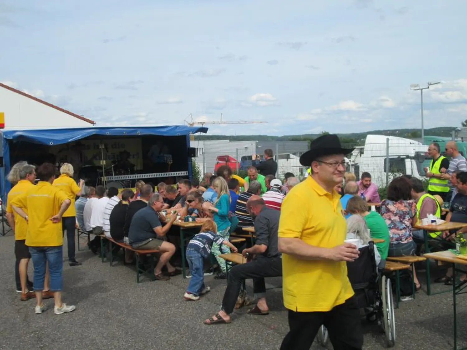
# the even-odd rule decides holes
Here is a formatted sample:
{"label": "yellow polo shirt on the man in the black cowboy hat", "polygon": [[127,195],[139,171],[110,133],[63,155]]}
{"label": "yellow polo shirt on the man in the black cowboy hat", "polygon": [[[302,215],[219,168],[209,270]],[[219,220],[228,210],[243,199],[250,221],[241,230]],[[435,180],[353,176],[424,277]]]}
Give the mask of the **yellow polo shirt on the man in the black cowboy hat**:
{"label": "yellow polo shirt on the man in the black cowboy hat", "polygon": [[[332,248],[344,243],[347,225],[340,196],[311,176],[294,186],[281,206],[279,237]],[[284,306],[293,311],[329,311],[354,295],[345,261],[304,260],[283,254]]]}

